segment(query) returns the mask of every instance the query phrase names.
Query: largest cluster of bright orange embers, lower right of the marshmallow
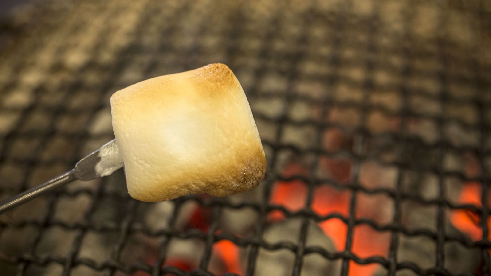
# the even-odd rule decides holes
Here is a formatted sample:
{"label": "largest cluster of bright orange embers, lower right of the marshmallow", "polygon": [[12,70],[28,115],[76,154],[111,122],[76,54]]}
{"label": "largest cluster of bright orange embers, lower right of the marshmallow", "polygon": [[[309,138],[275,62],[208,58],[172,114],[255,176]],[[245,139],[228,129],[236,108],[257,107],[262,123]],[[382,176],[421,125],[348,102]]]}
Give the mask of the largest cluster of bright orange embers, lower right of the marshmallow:
{"label": "largest cluster of bright orange embers, lower right of the marshmallow", "polygon": [[[350,173],[349,162],[343,163],[325,159],[321,166],[325,168],[337,180],[347,180]],[[336,174],[332,172],[336,171]],[[308,170],[299,164],[290,164],[285,168],[284,175],[305,175]],[[316,187],[311,208],[319,216],[326,216],[338,213],[343,217],[349,216],[349,203],[351,198],[350,190],[337,190],[329,185]],[[300,180],[290,182],[278,181],[274,184],[271,203],[284,206],[290,211],[300,210],[305,206],[307,195],[307,185]],[[373,200],[372,200],[373,201]],[[372,220],[380,221],[378,212],[366,210],[374,208],[370,200],[358,200],[356,217],[368,217]],[[385,201],[383,201],[386,203]],[[285,218],[280,211],[271,212],[270,221],[282,220]],[[321,221],[319,226],[334,243],[337,251],[343,251],[346,244],[346,234],[348,226],[339,219],[329,219]],[[389,232],[379,232],[371,226],[362,224],[355,226],[353,233],[352,252],[360,258],[367,258],[375,255],[386,256],[390,243]],[[355,262],[350,263],[350,276],[371,276],[377,270],[378,265],[359,265]]]}

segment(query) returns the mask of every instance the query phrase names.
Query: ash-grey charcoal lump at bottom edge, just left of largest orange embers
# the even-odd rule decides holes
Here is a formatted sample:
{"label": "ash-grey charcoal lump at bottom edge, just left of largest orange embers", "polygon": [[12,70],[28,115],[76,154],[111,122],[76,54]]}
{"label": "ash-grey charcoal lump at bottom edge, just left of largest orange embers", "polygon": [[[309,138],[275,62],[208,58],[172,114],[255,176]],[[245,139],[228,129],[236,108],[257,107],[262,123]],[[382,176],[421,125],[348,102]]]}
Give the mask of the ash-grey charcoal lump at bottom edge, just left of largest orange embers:
{"label": "ash-grey charcoal lump at bottom edge, just left of largest orange embers", "polygon": [[[291,242],[297,244],[300,234],[301,219],[288,219],[271,225],[264,233],[264,240],[268,244]],[[334,252],[334,245],[321,228],[309,221],[307,232],[307,247],[321,247],[327,252]],[[261,248],[257,256],[255,275],[287,276],[291,274],[291,266],[295,262],[295,255],[288,249],[267,250]],[[303,257],[302,276],[337,275],[339,262],[311,253]]]}

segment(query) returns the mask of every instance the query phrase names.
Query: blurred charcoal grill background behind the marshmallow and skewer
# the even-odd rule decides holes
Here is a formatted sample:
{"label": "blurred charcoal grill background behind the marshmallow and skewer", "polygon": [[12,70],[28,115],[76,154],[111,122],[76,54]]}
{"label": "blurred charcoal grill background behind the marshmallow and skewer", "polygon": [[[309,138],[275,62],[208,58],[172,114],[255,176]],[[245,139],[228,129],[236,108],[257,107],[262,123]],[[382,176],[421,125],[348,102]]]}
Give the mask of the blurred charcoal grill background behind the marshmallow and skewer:
{"label": "blurred charcoal grill background behind the marshmallow and skewer", "polygon": [[[20,2],[28,2],[19,4]],[[122,170],[0,214],[0,275],[490,275],[491,1],[0,3],[0,199],[113,138],[109,97],[222,62],[253,192],[144,203]]]}

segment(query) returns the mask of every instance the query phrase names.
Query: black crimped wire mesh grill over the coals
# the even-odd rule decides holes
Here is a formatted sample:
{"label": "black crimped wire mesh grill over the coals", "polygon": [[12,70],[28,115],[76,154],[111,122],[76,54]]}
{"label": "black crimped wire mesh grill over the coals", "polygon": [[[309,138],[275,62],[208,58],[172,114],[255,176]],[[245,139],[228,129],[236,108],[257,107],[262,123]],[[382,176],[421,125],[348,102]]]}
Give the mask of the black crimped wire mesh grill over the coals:
{"label": "black crimped wire mesh grill over the coals", "polygon": [[[2,197],[69,169],[113,138],[108,104],[114,91],[211,62],[229,65],[243,84],[267,153],[268,173],[257,188],[260,200],[185,196],[172,201],[168,224],[159,229],[142,221],[141,209],[150,204],[137,202],[120,189],[121,173],[74,183],[2,216],[1,269],[7,275],[39,275],[46,267],[55,267],[54,275],[213,275],[209,271],[213,245],[229,240],[248,248],[243,256],[247,275],[261,275],[256,264],[264,248],[292,252],[292,275],[300,275],[305,256],[312,254],[339,260],[341,275],[349,274],[351,261],[380,264],[388,275],[401,271],[457,275],[446,268],[449,243],[477,250],[475,273],[489,275],[490,10],[486,2],[478,1],[53,1],[27,6],[3,26]],[[315,109],[317,115],[299,118],[298,104]],[[333,120],[333,110],[355,110],[358,119]],[[390,120],[380,118],[396,118],[396,131],[381,127]],[[418,133],[414,121],[427,122],[433,137]],[[289,136],[290,129],[308,129],[311,134],[299,141]],[[326,149],[323,135],[328,130],[339,130],[353,142]],[[420,152],[425,152],[423,157],[415,157]],[[293,159],[312,158],[311,172],[285,176],[285,153]],[[447,164],[448,156],[471,156],[479,172],[472,175],[462,164]],[[347,158],[352,165],[350,179],[341,183],[319,177],[321,157]],[[393,187],[361,183],[363,166],[371,161],[396,168]],[[413,172],[436,177],[434,197],[406,191],[405,179]],[[456,202],[448,179],[478,182],[482,205]],[[296,180],[307,188],[303,208],[292,211],[270,202],[277,181]],[[348,216],[313,211],[316,189],[325,185],[350,193]],[[381,194],[393,204],[390,222],[356,216],[361,196]],[[407,201],[435,208],[435,227],[403,226]],[[212,210],[207,231],[176,226],[189,202]],[[252,235],[218,232],[228,209],[254,210],[257,223]],[[272,244],[262,238],[268,214],[275,210],[287,218],[302,218],[298,242]],[[477,214],[480,241],[448,231],[449,214],[455,210]],[[309,219],[343,221],[345,249],[306,246]],[[354,253],[354,231],[360,225],[390,233],[387,256]],[[49,248],[40,253],[47,233],[55,230],[69,233],[67,248],[62,253]],[[109,255],[83,255],[87,237],[100,233]],[[134,234],[159,240],[151,265],[121,261]],[[403,236],[435,243],[431,267],[399,260]],[[204,244],[197,270],[163,267],[175,239]]]}

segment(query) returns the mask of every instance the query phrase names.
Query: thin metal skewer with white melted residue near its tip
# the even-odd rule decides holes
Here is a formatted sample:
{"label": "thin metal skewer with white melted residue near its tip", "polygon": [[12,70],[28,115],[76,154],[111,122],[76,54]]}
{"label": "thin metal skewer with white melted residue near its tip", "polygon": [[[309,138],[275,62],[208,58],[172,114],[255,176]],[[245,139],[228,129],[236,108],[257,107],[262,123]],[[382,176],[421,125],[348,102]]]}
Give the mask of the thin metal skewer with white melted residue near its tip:
{"label": "thin metal skewer with white melted residue near its tip", "polygon": [[85,156],[73,169],[23,193],[1,201],[0,212],[23,204],[28,200],[53,191],[74,180],[88,181],[98,177],[108,176],[121,167],[123,167],[123,159],[119,154],[116,139],[112,139],[98,150]]}

